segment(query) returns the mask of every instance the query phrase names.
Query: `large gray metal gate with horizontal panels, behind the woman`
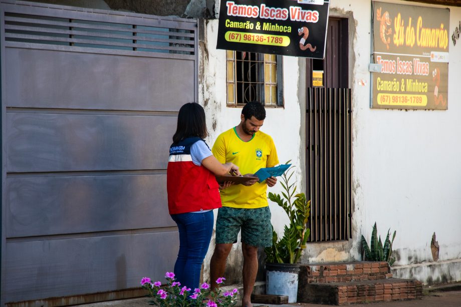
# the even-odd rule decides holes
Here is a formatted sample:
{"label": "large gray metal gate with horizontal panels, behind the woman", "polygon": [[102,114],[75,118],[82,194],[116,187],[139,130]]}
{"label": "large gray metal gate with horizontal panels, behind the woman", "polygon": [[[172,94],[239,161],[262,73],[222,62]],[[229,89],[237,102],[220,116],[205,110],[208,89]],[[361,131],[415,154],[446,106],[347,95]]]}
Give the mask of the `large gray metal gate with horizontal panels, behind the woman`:
{"label": "large gray metal gate with horizontal panels, behind the woman", "polygon": [[197,21],[0,9],[1,305],[121,297],[143,276],[163,280],[178,246],[168,147],[179,107],[197,98]]}

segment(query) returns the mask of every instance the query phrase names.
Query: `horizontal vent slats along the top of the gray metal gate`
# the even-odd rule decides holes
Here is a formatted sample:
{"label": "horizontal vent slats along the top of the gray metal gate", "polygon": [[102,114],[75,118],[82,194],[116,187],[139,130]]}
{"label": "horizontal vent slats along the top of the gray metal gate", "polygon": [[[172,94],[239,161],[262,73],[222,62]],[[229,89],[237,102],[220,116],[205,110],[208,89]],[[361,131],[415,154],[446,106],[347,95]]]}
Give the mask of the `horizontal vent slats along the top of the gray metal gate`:
{"label": "horizontal vent slats along the top of the gray metal gate", "polygon": [[194,55],[195,31],[5,13],[7,42]]}

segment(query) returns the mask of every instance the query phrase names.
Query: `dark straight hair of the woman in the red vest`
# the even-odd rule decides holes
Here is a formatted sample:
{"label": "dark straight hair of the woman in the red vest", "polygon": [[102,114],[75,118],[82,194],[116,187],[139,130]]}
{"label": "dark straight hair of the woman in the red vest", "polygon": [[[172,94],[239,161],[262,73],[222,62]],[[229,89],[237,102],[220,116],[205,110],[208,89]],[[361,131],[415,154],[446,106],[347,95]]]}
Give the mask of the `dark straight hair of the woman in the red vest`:
{"label": "dark straight hair of the woman in the red vest", "polygon": [[205,111],[198,103],[189,102],[179,109],[178,125],[173,135],[173,143],[193,136],[204,139],[208,136],[208,131],[206,130]]}

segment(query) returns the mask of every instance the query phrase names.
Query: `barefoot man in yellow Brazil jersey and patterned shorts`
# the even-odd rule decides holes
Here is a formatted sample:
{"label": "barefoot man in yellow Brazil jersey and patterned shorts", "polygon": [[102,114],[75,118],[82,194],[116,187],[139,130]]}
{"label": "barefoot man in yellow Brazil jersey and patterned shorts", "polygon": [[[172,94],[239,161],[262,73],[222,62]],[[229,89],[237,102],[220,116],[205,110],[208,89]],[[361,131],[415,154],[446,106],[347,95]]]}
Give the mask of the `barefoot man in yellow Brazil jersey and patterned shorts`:
{"label": "barefoot man in yellow Brazil jersey and patterned shorts", "polygon": [[[213,155],[220,163],[239,165],[240,172],[251,176],[262,167],[279,163],[272,138],[262,131],[266,110],[259,102],[249,102],[242,109],[241,122],[221,133],[214,142]],[[258,247],[272,245],[271,211],[267,201],[267,186],[277,183],[275,177],[263,182],[251,180],[245,185],[231,185],[221,190],[222,208],[216,220],[216,246],[210,262],[211,288],[224,275],[227,255],[242,230],[244,256],[243,307],[252,307],[250,296],[258,273]]]}

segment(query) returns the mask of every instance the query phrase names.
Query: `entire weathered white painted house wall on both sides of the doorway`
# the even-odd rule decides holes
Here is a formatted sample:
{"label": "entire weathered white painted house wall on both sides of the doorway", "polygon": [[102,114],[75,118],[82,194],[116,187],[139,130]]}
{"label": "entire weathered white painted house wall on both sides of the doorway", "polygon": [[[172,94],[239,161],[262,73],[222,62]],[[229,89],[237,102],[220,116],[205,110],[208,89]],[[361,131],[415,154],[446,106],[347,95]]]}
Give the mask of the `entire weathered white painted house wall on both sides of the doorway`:
{"label": "entire weathered white painted house wall on both sides of the doorway", "polygon": [[[349,65],[353,95],[354,232],[350,242],[312,244],[303,261],[360,260],[360,235],[369,240],[375,221],[381,236],[386,235],[389,227],[397,231],[393,245],[399,254],[396,267],[432,261],[433,232],[440,245],[439,261],[461,261],[461,40],[456,46],[451,42],[451,34],[461,20],[461,8],[450,7],[447,111],[371,109],[371,2],[332,0],[330,16],[352,16]],[[204,40],[208,54],[200,55],[205,77],[199,88],[199,102],[205,105],[210,144],[219,133],[237,125],[241,113],[239,108],[226,107],[225,52],[215,49],[217,24],[217,20],[207,22]],[[285,108],[268,109],[262,128],[274,138],[280,162],[292,159],[298,166],[304,165],[299,69],[297,58],[284,57]],[[359,81],[365,81],[365,86],[359,85]],[[301,182],[301,168],[298,178]],[[275,205],[271,205],[271,210],[272,222],[281,232],[287,222],[285,215]],[[205,258],[205,278],[212,249],[213,245]],[[331,253],[325,253],[330,249]],[[434,273],[426,271],[417,278],[425,281],[428,274]]]}

